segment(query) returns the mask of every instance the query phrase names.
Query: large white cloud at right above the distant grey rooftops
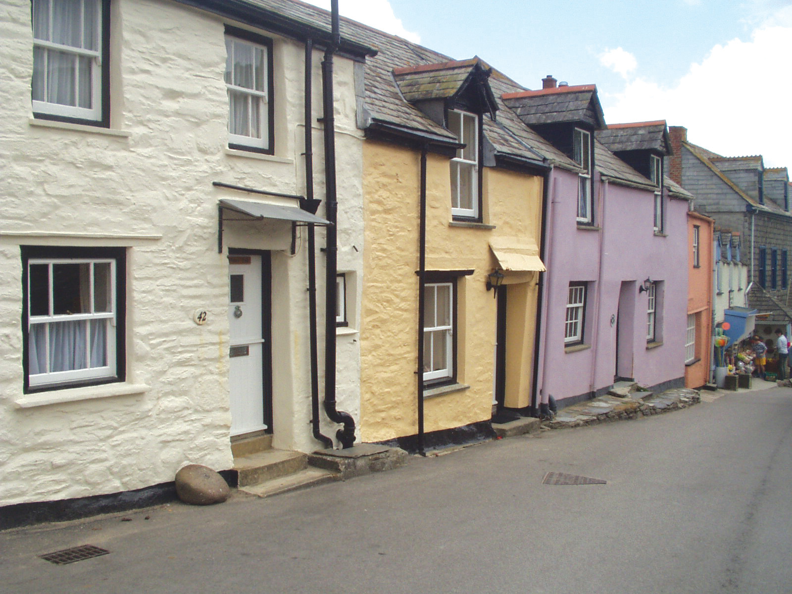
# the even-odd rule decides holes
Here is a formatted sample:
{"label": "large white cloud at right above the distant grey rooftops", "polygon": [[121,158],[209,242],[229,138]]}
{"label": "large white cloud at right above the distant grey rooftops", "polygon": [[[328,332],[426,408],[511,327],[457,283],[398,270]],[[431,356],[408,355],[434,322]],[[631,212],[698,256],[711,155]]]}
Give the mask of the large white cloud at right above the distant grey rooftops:
{"label": "large white cloud at right above the distant grey rooftops", "polygon": [[792,169],[790,40],[792,27],[756,29],[750,41],[716,45],[675,86],[638,77],[603,94],[606,119],[667,120],[719,154],[762,154],[765,166]]}

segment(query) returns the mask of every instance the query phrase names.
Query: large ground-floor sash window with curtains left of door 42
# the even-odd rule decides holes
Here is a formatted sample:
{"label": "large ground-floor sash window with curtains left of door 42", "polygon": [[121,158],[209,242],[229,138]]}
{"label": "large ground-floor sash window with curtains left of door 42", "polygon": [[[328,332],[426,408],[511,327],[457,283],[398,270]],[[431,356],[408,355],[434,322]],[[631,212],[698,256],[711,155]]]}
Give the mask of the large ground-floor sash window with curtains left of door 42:
{"label": "large ground-floor sash window with curtains left of door 42", "polygon": [[120,379],[124,250],[23,248],[22,258],[25,387]]}

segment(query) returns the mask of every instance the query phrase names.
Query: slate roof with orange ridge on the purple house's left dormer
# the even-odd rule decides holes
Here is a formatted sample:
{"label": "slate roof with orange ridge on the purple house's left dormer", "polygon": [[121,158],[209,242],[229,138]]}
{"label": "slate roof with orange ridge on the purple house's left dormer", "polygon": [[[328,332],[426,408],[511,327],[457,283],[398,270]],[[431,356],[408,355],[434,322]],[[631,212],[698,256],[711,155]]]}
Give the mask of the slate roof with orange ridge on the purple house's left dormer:
{"label": "slate roof with orange ridge on the purple house's left dormer", "polygon": [[502,99],[529,126],[565,122],[589,122],[595,128],[606,125],[596,85],[523,90],[506,93]]}

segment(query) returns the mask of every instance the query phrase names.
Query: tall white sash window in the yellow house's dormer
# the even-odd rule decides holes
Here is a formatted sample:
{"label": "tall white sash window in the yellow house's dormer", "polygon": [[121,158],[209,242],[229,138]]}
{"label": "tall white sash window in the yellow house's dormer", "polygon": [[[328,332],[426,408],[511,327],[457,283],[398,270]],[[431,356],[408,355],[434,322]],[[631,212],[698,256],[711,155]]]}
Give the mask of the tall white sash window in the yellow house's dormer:
{"label": "tall white sash window in the yellow house's dormer", "polygon": [[480,117],[457,109],[448,110],[448,129],[465,146],[451,159],[451,215],[478,219],[478,130]]}

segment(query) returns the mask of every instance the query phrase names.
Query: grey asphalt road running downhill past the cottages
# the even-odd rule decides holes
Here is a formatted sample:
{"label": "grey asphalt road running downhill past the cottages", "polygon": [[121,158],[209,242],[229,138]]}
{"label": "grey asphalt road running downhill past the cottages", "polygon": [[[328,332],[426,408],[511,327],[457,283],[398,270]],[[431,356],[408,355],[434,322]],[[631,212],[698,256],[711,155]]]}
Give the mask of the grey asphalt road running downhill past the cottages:
{"label": "grey asphalt road running downhill past the cottages", "polygon": [[[6,531],[0,592],[792,592],[790,497],[792,389],[729,393],[265,500]],[[83,544],[110,554],[37,557]]]}

